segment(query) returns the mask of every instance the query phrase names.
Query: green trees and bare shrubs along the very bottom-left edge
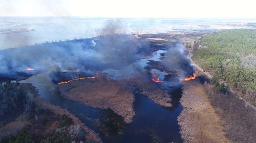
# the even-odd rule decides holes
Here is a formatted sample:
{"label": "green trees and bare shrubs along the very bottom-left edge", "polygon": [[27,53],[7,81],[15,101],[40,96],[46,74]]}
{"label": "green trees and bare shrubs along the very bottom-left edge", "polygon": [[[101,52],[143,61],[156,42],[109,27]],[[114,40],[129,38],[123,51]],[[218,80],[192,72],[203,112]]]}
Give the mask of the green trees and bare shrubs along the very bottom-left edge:
{"label": "green trees and bare shrubs along the very bottom-left edge", "polygon": [[[43,120],[43,122],[45,121]],[[39,142],[38,140],[41,140],[40,143],[76,143],[76,141],[82,143],[85,141],[84,131],[79,125],[74,125],[72,119],[67,115],[61,116],[61,122],[57,126],[58,128],[48,130],[42,136],[37,136],[28,129],[23,129],[16,136],[11,135],[0,139],[0,143],[36,143]]]}

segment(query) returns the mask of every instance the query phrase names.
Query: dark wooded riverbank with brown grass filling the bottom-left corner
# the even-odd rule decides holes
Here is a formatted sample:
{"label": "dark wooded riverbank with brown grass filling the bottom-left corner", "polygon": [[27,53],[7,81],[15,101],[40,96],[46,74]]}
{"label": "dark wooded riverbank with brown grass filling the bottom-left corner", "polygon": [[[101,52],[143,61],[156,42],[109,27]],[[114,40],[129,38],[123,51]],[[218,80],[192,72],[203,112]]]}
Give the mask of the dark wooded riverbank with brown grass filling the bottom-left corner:
{"label": "dark wooded riverbank with brown grass filling the bottom-left corner", "polygon": [[[0,132],[0,143],[76,143],[85,142],[86,132],[74,125],[72,118],[56,115],[38,99],[35,87],[27,83],[0,84],[0,128],[22,117],[27,121],[20,129],[6,126],[7,133]],[[16,123],[16,124],[17,124]],[[57,125],[56,125],[57,124]],[[8,133],[12,131],[12,133]],[[88,141],[87,141],[88,142]]]}

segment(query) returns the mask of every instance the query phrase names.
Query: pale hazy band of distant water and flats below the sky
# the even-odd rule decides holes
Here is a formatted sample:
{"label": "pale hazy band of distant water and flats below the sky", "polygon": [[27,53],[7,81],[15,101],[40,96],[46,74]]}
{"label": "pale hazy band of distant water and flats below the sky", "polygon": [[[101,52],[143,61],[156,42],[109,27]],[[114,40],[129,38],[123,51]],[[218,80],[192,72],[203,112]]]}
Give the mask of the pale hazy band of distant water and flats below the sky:
{"label": "pale hazy band of distant water and flats below the sky", "polygon": [[248,28],[244,24],[256,22],[256,19],[225,18],[0,17],[0,39],[5,41],[0,44],[0,49],[95,37],[105,24],[116,20],[122,21],[122,26],[129,31],[127,33]]}

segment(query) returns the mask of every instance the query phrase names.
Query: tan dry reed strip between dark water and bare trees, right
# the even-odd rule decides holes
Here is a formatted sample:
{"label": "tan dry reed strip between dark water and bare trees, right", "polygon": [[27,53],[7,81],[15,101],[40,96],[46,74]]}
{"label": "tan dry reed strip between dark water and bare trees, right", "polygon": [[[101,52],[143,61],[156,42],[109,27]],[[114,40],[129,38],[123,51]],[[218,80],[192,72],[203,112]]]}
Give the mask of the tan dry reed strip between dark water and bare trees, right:
{"label": "tan dry reed strip between dark water and bare trees, right", "polygon": [[210,104],[199,80],[183,82],[181,104],[184,108],[178,117],[185,143],[229,143],[223,122]]}

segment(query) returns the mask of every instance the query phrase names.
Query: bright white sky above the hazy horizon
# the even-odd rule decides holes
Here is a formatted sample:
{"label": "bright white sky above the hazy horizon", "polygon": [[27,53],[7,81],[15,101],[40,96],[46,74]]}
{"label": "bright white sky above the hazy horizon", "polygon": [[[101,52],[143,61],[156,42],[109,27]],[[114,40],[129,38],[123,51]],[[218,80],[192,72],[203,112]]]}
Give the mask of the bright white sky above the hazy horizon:
{"label": "bright white sky above the hazy horizon", "polygon": [[1,0],[0,16],[256,18],[255,0]]}

